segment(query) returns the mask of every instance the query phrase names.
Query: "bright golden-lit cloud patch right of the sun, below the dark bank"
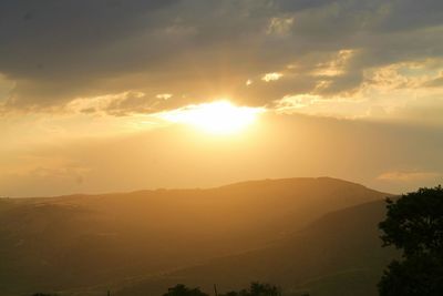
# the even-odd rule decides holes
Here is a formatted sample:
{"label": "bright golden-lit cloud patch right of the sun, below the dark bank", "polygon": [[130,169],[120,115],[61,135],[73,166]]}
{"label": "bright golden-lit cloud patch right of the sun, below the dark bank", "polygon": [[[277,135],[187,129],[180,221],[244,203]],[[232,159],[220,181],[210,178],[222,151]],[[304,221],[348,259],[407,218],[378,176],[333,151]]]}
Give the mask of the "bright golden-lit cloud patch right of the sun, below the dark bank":
{"label": "bright golden-lit cloud patch right of the sun, below the dark bank", "polygon": [[[339,54],[331,57],[339,57]],[[429,86],[430,83],[434,83],[441,78],[442,59],[424,59],[373,67],[363,71],[361,82],[356,85],[352,85],[352,80],[348,80],[348,73],[343,70],[344,74],[334,71],[333,73],[328,72],[330,75],[321,75],[311,89],[297,91],[290,89],[290,86],[297,85],[290,84],[292,80],[298,83],[303,79],[310,81],[310,75],[319,73],[317,70],[329,70],[331,64],[337,65],[337,60],[331,57],[322,58],[324,62],[319,63],[316,71],[311,73],[308,73],[303,65],[292,64],[287,72],[284,72],[282,81],[275,82],[281,83],[279,90],[285,90],[286,93],[276,98],[272,104],[268,104],[268,108],[285,114],[302,113],[434,126],[443,124],[440,115],[443,110],[443,88]],[[346,64],[352,62],[352,59],[344,63],[344,68]],[[299,74],[299,72],[308,74]],[[338,79],[344,79],[344,81]],[[288,83],[289,88],[285,89],[282,83]],[[348,85],[348,88],[343,88],[343,85]],[[266,92],[266,88],[260,91],[270,94],[269,91]],[[278,96],[278,93],[275,96]]]}

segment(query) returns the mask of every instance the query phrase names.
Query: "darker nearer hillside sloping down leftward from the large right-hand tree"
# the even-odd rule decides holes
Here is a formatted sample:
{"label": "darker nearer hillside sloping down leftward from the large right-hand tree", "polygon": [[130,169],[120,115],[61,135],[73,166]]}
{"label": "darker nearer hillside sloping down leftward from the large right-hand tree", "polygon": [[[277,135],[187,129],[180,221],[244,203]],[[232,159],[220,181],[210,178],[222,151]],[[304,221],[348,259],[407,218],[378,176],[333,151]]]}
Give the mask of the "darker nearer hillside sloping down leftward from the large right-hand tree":
{"label": "darker nearer hillside sloping down leftward from the large right-hand tree", "polygon": [[377,296],[382,271],[396,255],[381,247],[377,224],[384,212],[381,201],[332,212],[264,249],[127,283],[116,295],[162,295],[176,283],[238,290],[260,280],[280,285],[286,295]]}

